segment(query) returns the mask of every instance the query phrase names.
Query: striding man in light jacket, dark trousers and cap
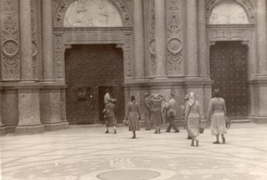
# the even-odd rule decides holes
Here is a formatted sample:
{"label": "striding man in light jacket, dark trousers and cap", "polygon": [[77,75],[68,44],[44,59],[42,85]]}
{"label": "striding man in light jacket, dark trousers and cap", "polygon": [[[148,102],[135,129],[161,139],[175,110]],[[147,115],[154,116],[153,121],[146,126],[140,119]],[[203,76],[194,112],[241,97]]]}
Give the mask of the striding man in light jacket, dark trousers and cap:
{"label": "striding man in light jacket, dark trousers and cap", "polygon": [[174,133],[179,133],[179,129],[175,125],[175,116],[176,116],[176,108],[177,108],[177,103],[176,100],[174,99],[174,94],[169,95],[169,102],[166,102],[165,104],[165,110],[166,110],[166,119],[169,122],[169,126],[166,129],[166,132],[169,133],[171,132],[171,128],[174,128]]}

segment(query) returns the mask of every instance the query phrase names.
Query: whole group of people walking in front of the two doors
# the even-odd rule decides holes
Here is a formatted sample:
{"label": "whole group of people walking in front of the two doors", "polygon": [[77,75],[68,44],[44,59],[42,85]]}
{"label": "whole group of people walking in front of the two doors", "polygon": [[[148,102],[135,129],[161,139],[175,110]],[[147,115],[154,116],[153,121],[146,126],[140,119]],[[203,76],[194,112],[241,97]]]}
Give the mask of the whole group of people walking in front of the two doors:
{"label": "whole group of people walking in front of the two doors", "polygon": [[[150,130],[155,127],[155,134],[160,134],[160,127],[163,125],[163,114],[166,114],[166,122],[169,123],[166,128],[166,132],[171,132],[171,128],[174,128],[174,133],[179,133],[179,129],[176,126],[174,119],[176,117],[176,111],[178,110],[177,102],[174,99],[174,94],[169,94],[169,100],[161,94],[144,94],[144,116],[145,116],[145,130]],[[115,119],[115,102],[116,100],[111,98],[109,94],[104,97],[106,103],[106,119],[107,119],[107,131],[109,133],[109,127],[114,127],[114,133],[116,134],[116,119]],[[196,95],[191,92],[184,97],[184,105],[182,105],[182,111],[184,112],[184,128],[188,132],[187,139],[191,140],[191,146],[198,146],[199,140],[199,126],[201,119],[200,104],[196,100]],[[163,108],[162,108],[163,107]],[[227,128],[225,125],[226,107],[223,98],[220,96],[219,89],[214,90],[214,98],[209,102],[207,120],[211,123],[211,133],[215,135],[216,141],[214,143],[220,143],[219,137],[222,135],[223,143],[226,142],[225,134]],[[136,138],[136,131],[140,130],[139,120],[141,119],[140,104],[135,101],[135,96],[131,96],[131,101],[126,106],[126,122],[129,126],[129,130],[133,132],[133,137]]]}

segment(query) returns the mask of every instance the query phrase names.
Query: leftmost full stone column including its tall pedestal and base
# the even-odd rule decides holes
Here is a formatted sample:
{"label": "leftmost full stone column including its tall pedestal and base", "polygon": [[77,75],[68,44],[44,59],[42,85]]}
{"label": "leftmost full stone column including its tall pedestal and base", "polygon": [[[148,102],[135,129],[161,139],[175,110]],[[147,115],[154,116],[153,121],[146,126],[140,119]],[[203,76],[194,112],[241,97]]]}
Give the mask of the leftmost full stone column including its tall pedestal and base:
{"label": "leftmost full stone column including its tall pedestal and base", "polygon": [[30,0],[20,0],[21,83],[18,88],[19,125],[16,134],[44,132],[40,121],[39,87],[34,81]]}

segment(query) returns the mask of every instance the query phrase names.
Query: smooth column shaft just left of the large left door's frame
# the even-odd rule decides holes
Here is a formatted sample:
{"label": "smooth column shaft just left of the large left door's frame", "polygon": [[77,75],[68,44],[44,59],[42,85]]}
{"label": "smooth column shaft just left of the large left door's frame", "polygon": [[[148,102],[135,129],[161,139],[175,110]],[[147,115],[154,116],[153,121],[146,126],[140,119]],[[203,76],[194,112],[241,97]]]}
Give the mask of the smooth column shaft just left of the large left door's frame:
{"label": "smooth column shaft just left of the large left door's frame", "polygon": [[51,0],[42,0],[44,81],[54,80],[53,8]]}

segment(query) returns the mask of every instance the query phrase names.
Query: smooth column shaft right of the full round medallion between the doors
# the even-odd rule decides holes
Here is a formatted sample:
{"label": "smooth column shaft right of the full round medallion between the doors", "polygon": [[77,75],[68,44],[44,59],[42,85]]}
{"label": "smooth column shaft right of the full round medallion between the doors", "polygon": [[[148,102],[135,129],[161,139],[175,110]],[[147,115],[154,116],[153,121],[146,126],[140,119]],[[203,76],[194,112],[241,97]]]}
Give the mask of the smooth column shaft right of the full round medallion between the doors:
{"label": "smooth column shaft right of the full round medallion between the doors", "polygon": [[198,9],[196,0],[186,0],[187,77],[198,77]]}

